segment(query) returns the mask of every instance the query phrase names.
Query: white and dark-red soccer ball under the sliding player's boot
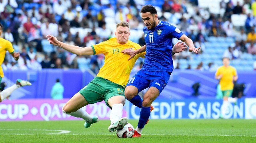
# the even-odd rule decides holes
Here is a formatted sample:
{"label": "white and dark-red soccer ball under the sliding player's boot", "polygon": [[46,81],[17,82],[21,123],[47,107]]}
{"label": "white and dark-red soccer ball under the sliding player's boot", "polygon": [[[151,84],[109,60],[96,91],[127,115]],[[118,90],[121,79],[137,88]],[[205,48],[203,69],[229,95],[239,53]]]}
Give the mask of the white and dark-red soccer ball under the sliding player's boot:
{"label": "white and dark-red soccer ball under the sliding player's boot", "polygon": [[132,138],[133,134],[134,128],[130,123],[127,123],[123,128],[116,130],[118,138]]}

